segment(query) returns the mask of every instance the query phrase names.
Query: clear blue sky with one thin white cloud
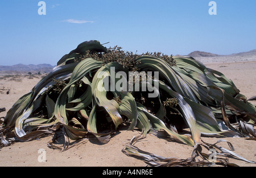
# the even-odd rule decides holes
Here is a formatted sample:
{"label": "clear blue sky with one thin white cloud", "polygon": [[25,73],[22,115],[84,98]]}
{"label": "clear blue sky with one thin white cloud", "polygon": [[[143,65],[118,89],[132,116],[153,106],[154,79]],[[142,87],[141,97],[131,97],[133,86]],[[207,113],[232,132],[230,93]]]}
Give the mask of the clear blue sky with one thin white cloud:
{"label": "clear blue sky with one thin white cloud", "polygon": [[0,1],[0,65],[57,61],[87,40],[123,50],[232,54],[256,49],[256,1],[218,0]]}

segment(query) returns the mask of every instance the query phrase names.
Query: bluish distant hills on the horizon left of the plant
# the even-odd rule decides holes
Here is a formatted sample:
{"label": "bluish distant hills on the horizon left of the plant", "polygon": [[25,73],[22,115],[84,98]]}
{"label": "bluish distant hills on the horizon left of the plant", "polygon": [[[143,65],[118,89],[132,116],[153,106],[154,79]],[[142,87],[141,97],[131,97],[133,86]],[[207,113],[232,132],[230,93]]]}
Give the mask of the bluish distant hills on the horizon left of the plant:
{"label": "bluish distant hills on the horizon left of the plant", "polygon": [[19,72],[31,72],[31,73],[49,73],[54,66],[43,63],[39,65],[24,65],[22,63],[12,66],[1,66],[0,71],[19,71]]}

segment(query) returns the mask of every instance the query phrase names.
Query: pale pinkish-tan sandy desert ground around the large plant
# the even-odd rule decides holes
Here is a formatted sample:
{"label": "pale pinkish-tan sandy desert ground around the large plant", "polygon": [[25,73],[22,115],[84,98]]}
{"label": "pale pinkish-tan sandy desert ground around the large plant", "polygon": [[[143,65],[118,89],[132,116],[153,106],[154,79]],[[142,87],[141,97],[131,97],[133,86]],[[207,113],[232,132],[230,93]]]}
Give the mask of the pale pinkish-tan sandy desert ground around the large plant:
{"label": "pale pinkish-tan sandy desert ground around the large plant", "polygon": [[[226,77],[233,80],[241,93],[248,98],[256,95],[256,61],[236,62],[236,63],[206,63],[207,67],[221,71]],[[19,77],[1,78],[0,76],[0,108],[6,110],[26,94],[32,87],[38,83],[40,78]],[[10,90],[10,91],[9,91]],[[6,92],[9,91],[9,95]],[[253,103],[253,102],[251,102]],[[253,104],[256,104],[255,102]],[[4,117],[6,112],[0,113]],[[40,138],[30,142],[17,142],[9,147],[3,147],[0,150],[0,167],[4,166],[112,166],[112,167],[141,167],[146,164],[141,160],[131,158],[123,154],[123,147],[129,143],[129,140],[139,133],[134,131],[119,130],[115,133],[109,143],[101,145],[95,139],[85,139],[67,151],[49,149],[47,142],[51,136]],[[220,138],[202,138],[205,142],[215,143]],[[233,144],[238,155],[256,162],[256,141],[248,141],[243,138],[225,138]],[[226,143],[221,146],[228,149]],[[160,139],[154,135],[147,135],[147,138],[136,144],[144,151],[152,152],[164,157],[188,158],[192,154],[192,147],[175,142],[168,142],[166,139]],[[46,162],[39,162],[39,149],[46,150]],[[254,167],[256,164],[245,163],[237,159],[229,159],[230,163],[236,163],[239,166]]]}

